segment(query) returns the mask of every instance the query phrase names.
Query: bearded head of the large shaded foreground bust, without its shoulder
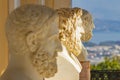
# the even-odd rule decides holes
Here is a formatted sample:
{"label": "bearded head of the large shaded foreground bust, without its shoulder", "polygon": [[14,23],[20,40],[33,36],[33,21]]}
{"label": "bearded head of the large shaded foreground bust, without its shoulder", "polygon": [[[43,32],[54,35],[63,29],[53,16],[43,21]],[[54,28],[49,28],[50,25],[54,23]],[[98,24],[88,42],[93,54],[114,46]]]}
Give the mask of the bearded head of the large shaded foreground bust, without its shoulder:
{"label": "bearded head of the large shaded foreground bust, without its shoulder", "polygon": [[57,13],[45,6],[25,5],[14,10],[6,22],[10,56],[27,55],[40,76],[53,76],[56,53],[61,50],[58,21]]}

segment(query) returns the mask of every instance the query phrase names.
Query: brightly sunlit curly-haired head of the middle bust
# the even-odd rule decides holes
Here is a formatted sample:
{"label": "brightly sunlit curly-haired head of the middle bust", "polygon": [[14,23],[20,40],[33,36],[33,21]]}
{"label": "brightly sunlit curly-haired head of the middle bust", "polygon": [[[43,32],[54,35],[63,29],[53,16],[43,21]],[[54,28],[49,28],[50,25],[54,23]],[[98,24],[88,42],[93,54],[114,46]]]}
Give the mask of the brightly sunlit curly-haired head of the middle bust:
{"label": "brightly sunlit curly-haired head of the middle bust", "polygon": [[60,16],[59,39],[67,50],[78,56],[81,53],[81,33],[84,32],[81,21],[82,9],[61,8],[57,10]]}

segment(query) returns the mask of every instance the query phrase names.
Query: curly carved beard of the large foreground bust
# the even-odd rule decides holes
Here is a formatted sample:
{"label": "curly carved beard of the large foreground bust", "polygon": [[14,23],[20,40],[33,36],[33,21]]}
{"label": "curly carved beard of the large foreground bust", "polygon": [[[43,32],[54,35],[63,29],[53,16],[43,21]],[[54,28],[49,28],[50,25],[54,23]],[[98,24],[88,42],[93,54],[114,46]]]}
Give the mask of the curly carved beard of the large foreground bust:
{"label": "curly carved beard of the large foreground bust", "polygon": [[57,52],[53,55],[46,50],[39,48],[36,53],[32,53],[31,60],[41,77],[49,78],[57,72]]}

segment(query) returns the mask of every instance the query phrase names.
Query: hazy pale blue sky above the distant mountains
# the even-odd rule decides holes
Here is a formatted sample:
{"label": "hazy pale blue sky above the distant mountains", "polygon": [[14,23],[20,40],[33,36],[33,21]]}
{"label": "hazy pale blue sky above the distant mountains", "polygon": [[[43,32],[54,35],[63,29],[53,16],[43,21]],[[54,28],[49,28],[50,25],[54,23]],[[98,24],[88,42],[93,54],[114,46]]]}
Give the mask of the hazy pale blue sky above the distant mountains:
{"label": "hazy pale blue sky above the distant mountains", "polygon": [[72,0],[72,6],[90,11],[94,18],[120,21],[120,0]]}

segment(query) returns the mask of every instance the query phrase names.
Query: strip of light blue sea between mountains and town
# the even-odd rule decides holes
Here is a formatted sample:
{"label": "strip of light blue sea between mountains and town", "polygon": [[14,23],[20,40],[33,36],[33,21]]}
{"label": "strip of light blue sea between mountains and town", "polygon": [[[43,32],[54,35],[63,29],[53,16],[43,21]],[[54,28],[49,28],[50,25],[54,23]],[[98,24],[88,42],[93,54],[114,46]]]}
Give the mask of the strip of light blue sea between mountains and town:
{"label": "strip of light blue sea between mountains and town", "polygon": [[94,32],[90,42],[120,41],[120,32]]}

